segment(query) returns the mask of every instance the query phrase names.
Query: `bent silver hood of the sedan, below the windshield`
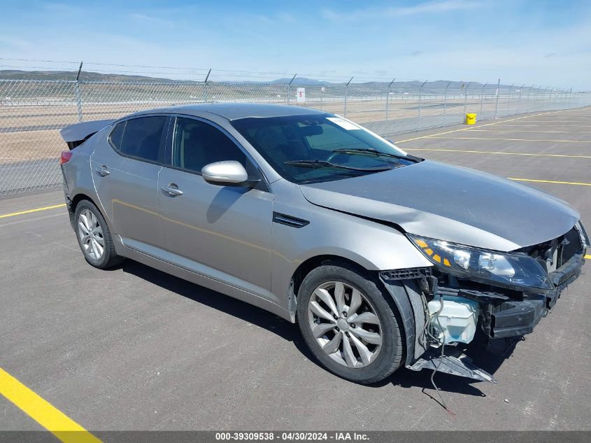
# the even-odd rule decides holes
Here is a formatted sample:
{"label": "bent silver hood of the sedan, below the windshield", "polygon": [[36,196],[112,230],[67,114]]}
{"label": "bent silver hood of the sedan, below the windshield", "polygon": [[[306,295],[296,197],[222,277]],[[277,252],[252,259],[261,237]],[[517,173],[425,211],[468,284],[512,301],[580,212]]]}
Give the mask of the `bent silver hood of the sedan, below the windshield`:
{"label": "bent silver hood of the sedan, below the windshield", "polygon": [[394,223],[411,234],[496,251],[555,239],[579,219],[576,209],[543,192],[427,160],[300,188],[318,206]]}

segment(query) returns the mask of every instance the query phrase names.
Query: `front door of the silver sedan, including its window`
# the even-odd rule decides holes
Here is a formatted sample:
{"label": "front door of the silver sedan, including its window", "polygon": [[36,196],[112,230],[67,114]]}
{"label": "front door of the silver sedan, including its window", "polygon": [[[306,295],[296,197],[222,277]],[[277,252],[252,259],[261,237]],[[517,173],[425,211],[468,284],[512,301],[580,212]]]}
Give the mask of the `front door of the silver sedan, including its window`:
{"label": "front door of the silver sedan, including its window", "polygon": [[217,125],[197,118],[171,122],[170,162],[159,174],[168,260],[259,296],[271,289],[273,195],[261,181],[255,188],[213,185],[201,168],[237,160],[249,176],[262,178],[254,161]]}

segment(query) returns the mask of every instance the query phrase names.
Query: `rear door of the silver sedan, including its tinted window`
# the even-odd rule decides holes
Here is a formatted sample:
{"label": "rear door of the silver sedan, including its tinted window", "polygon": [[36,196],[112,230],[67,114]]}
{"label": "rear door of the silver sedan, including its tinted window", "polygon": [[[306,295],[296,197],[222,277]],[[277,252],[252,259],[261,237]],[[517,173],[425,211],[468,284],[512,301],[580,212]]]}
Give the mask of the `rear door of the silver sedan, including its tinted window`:
{"label": "rear door of the silver sedan, including its tinted window", "polygon": [[118,122],[109,146],[94,151],[90,166],[101,206],[126,246],[155,255],[164,247],[158,214],[158,173],[162,169],[166,115]]}

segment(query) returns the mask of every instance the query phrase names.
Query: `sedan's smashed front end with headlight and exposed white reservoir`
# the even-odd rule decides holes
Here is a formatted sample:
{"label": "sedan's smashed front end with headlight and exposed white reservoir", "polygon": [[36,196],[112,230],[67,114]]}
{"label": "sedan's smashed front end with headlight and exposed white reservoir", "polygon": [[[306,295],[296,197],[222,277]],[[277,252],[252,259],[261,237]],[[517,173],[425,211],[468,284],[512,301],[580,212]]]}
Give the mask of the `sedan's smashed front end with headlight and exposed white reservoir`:
{"label": "sedan's smashed front end with headlight and exposed white reservoir", "polygon": [[589,245],[581,222],[511,253],[408,237],[434,266],[380,272],[402,316],[406,367],[492,382],[464,354],[466,345],[478,332],[487,351],[503,354],[532,332],[581,274]]}

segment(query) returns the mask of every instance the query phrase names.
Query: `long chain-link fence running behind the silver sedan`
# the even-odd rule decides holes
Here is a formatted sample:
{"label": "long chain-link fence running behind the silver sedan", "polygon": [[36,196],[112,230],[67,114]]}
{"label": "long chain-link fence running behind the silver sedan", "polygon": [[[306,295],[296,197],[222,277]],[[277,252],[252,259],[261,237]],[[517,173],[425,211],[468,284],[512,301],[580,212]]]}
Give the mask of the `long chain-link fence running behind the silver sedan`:
{"label": "long chain-link fence running behind the silver sedan", "polygon": [[292,104],[346,116],[383,136],[518,113],[578,108],[591,93],[462,83],[106,82],[0,79],[0,197],[61,183],[59,129],[134,111],[211,101]]}

